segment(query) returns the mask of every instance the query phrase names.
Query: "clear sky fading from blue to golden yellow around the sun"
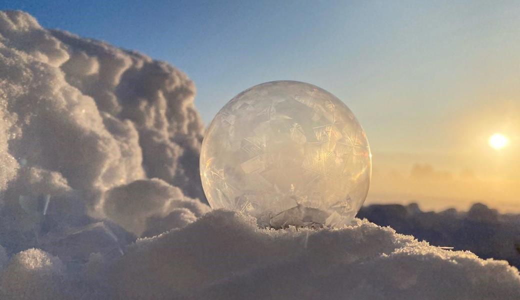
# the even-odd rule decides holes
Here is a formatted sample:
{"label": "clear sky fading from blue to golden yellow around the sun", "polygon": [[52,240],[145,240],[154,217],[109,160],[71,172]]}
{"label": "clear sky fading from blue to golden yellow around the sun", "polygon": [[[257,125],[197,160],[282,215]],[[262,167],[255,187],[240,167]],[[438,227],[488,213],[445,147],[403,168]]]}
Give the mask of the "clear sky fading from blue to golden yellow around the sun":
{"label": "clear sky fading from blue to golden yellow around the sun", "polygon": [[[439,194],[424,207],[478,200],[520,211],[516,1],[7,0],[0,8],[170,62],[196,83],[206,124],[259,83],[328,90],[367,132],[369,203]],[[509,146],[490,148],[493,133]]]}

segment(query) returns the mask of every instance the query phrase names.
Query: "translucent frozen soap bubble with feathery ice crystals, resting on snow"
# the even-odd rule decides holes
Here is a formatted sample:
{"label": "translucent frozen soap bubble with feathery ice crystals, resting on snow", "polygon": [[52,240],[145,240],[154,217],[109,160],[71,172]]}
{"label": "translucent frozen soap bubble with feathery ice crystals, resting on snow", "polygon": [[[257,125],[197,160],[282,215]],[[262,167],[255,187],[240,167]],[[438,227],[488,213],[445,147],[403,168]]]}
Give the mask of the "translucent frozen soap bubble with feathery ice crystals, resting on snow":
{"label": "translucent frozen soap bubble with feathery ice crystals, resting on snow", "polygon": [[231,99],[207,129],[202,185],[213,208],[262,227],[340,227],[367,197],[367,136],[340,99],[296,81],[259,84]]}

